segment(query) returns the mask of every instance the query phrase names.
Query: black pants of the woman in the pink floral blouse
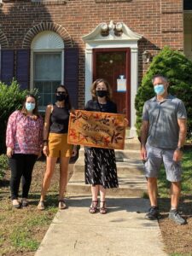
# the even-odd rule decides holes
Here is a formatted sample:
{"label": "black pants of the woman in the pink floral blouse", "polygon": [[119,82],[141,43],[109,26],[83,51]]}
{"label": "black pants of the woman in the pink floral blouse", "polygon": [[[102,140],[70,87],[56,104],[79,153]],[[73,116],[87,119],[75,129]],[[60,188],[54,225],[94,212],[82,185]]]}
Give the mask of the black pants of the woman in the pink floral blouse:
{"label": "black pants of the woman in the pink floral blouse", "polygon": [[11,168],[10,190],[11,199],[17,199],[22,177],[22,198],[27,198],[32,182],[32,169],[37,160],[36,154],[13,154],[9,159]]}

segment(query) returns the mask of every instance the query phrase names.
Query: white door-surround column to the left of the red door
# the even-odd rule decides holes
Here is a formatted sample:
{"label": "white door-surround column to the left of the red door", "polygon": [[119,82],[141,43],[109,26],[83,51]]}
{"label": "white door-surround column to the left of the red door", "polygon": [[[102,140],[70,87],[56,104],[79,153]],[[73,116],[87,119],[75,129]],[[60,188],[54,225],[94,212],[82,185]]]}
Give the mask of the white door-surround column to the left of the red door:
{"label": "white door-surround column to the left of the red door", "polygon": [[85,88],[84,88],[84,100],[85,103],[91,99],[90,86],[92,84],[93,76],[93,64],[92,64],[92,49],[85,49]]}

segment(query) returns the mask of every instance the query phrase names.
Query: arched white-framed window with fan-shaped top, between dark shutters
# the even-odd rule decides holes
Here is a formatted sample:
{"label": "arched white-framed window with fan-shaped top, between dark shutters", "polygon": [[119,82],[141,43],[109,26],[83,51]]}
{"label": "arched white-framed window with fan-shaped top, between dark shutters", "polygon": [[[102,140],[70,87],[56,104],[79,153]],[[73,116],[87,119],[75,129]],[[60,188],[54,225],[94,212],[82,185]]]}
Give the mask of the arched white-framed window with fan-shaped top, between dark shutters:
{"label": "arched white-framed window with fan-shaped top, between dark shutters", "polygon": [[55,89],[63,83],[64,42],[55,32],[44,31],[33,38],[32,88],[38,89],[39,110],[55,102]]}

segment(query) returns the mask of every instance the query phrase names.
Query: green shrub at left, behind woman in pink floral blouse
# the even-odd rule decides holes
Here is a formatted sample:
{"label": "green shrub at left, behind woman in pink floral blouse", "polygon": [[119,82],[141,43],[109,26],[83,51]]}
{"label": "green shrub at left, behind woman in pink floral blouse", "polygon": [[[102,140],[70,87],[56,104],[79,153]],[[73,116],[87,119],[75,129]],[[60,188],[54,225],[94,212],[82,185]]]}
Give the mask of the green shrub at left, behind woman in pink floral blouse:
{"label": "green shrub at left, behind woman in pink floral blouse", "polygon": [[13,79],[10,85],[0,82],[0,153],[5,152],[5,133],[9,115],[21,108],[28,90],[20,90],[20,85]]}

